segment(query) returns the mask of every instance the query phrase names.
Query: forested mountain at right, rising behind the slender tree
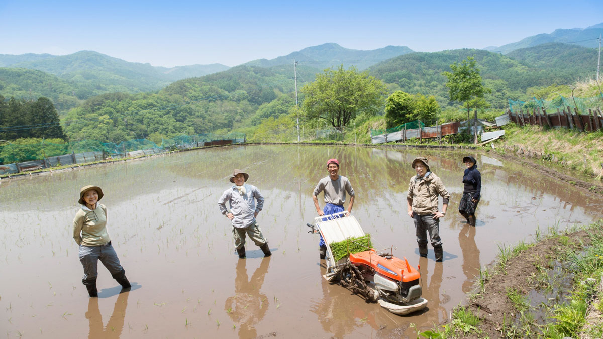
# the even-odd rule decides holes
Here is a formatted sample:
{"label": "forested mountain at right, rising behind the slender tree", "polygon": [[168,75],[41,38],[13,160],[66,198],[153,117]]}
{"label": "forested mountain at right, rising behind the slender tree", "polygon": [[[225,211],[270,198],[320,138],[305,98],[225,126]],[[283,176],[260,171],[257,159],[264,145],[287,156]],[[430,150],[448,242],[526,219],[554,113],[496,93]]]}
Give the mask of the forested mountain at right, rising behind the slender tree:
{"label": "forested mountain at right, rising behind the slender tree", "polygon": [[369,71],[385,83],[397,84],[404,92],[434,95],[441,106],[447,106],[446,77],[442,72],[450,71],[450,64],[473,56],[485,84],[493,90],[486,100],[491,107],[503,109],[508,99],[525,97],[530,87],[568,84],[596,72],[594,51],[555,43],[520,49],[510,55],[483,49],[416,52],[374,65]]}

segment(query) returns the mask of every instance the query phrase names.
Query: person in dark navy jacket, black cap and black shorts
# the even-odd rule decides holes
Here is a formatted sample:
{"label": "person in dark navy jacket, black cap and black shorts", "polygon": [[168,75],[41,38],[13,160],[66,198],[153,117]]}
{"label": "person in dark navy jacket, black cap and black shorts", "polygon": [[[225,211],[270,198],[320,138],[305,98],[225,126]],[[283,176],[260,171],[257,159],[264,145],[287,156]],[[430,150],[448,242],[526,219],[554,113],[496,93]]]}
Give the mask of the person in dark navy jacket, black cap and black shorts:
{"label": "person in dark navy jacket, black cap and black shorts", "polygon": [[467,166],[467,170],[463,176],[465,188],[461,203],[458,205],[458,212],[467,219],[467,223],[475,226],[475,209],[478,207],[482,191],[482,175],[478,171],[474,157],[466,156],[463,158],[463,162]]}

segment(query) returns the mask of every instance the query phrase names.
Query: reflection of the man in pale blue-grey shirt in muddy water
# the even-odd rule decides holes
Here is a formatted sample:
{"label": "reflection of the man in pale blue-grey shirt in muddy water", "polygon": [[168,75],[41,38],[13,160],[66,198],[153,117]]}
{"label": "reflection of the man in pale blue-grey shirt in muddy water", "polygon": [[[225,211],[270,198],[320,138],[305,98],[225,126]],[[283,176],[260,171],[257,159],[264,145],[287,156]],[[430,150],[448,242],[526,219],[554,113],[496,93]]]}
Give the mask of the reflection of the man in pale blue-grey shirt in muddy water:
{"label": "reflection of the man in pale blue-grey shirt in muddy water", "polygon": [[270,267],[270,258],[272,257],[262,259],[260,267],[253,273],[251,280],[248,280],[247,268],[245,268],[248,259],[239,259],[236,263],[235,295],[226,299],[224,311],[239,328],[239,338],[256,338],[255,326],[268,311],[270,300],[260,290]]}

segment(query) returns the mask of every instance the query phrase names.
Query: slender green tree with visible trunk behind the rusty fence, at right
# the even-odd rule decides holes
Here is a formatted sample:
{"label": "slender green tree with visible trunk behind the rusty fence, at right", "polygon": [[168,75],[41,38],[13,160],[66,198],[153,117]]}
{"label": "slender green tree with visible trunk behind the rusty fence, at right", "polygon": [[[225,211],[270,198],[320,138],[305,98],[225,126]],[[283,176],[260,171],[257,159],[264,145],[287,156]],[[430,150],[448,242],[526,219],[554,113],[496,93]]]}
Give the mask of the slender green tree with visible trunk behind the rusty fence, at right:
{"label": "slender green tree with visible trunk behind the rusty fence, at right", "polygon": [[[450,101],[466,104],[467,120],[470,120],[471,107],[482,103],[480,99],[484,98],[484,95],[490,93],[491,90],[482,83],[482,77],[479,75],[479,69],[473,57],[467,57],[467,60],[463,60],[461,65],[456,62],[453,63],[450,65],[450,69],[452,69],[452,73],[443,72],[448,78],[446,87],[448,87]],[[477,143],[477,141],[477,135],[475,135],[475,142]]]}

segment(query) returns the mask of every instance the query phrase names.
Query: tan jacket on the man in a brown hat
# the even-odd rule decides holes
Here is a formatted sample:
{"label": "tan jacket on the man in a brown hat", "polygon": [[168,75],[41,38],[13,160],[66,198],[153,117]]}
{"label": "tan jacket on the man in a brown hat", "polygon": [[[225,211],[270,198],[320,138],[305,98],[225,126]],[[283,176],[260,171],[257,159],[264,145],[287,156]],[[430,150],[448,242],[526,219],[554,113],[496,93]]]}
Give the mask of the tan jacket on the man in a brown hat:
{"label": "tan jacket on the man in a brown hat", "polygon": [[418,215],[438,212],[438,195],[441,195],[444,204],[448,204],[450,193],[446,191],[442,180],[433,173],[423,179],[412,176],[408,183],[406,198],[412,200],[412,212]]}

